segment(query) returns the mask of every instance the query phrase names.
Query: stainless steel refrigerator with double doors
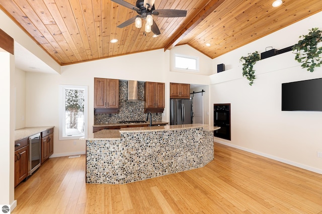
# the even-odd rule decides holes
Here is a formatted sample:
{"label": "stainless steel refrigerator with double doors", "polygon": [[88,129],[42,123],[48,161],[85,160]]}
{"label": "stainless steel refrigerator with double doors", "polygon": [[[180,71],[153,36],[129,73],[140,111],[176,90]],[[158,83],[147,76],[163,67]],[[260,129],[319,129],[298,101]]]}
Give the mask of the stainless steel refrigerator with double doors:
{"label": "stainless steel refrigerator with double doors", "polygon": [[192,123],[192,100],[170,99],[170,125]]}

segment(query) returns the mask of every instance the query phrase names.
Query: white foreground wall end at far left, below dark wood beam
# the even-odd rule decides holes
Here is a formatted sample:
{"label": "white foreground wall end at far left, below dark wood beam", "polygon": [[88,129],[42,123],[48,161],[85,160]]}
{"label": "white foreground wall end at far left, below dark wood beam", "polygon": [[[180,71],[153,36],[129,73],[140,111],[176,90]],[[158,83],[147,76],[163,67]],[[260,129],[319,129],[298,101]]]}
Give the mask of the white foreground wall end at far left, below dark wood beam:
{"label": "white foreground wall end at far left, below dark wood beam", "polygon": [[15,208],[17,201],[14,200],[15,180],[15,110],[14,110],[14,75],[15,59],[8,52],[0,49],[0,204],[6,204]]}

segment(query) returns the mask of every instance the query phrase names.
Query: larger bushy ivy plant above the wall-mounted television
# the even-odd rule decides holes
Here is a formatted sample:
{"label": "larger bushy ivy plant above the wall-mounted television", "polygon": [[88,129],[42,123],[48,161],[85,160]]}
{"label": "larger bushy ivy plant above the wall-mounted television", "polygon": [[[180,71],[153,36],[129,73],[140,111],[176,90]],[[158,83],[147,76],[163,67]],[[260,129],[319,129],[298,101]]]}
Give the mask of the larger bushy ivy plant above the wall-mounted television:
{"label": "larger bushy ivy plant above the wall-mounted television", "polygon": [[322,53],[322,47],[317,48],[317,43],[322,42],[321,30],[318,28],[312,28],[309,30],[308,35],[300,36],[303,38],[293,46],[295,51],[295,60],[302,63],[302,68],[307,68],[309,72],[313,72],[315,67],[320,67]]}

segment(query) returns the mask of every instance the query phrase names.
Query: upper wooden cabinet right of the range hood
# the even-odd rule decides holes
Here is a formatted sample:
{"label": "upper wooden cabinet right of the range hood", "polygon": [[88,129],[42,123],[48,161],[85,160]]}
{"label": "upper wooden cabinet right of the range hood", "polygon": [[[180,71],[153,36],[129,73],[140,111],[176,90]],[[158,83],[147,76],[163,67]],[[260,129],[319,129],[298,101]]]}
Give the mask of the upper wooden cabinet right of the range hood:
{"label": "upper wooden cabinet right of the range hood", "polygon": [[165,109],[165,83],[145,82],[144,112],[162,113]]}

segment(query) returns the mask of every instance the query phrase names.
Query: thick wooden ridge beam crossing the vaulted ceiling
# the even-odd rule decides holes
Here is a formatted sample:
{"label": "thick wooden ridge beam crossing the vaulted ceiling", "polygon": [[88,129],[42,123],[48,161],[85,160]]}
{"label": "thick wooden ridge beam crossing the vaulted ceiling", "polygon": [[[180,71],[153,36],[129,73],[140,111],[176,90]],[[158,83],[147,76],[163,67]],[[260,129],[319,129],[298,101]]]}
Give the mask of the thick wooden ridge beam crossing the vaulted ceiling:
{"label": "thick wooden ridge beam crossing the vaulted ceiling", "polygon": [[175,47],[181,40],[185,38],[192,30],[194,30],[205,18],[207,18],[211,13],[213,13],[224,0],[208,1],[206,6],[202,8],[196,16],[165,46],[166,50],[171,50]]}

